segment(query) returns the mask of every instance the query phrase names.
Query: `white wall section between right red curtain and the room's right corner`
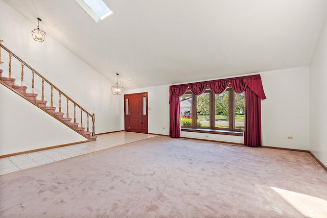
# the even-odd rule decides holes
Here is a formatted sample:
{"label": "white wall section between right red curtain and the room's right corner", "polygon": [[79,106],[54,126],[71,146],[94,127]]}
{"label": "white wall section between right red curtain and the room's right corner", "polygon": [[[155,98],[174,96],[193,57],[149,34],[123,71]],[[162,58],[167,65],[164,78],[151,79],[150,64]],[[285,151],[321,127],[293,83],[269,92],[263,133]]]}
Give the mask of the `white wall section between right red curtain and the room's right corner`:
{"label": "white wall section between right red curtain and the room's right corner", "polygon": [[[261,73],[264,146],[309,150],[309,67]],[[293,139],[287,139],[292,136]]]}

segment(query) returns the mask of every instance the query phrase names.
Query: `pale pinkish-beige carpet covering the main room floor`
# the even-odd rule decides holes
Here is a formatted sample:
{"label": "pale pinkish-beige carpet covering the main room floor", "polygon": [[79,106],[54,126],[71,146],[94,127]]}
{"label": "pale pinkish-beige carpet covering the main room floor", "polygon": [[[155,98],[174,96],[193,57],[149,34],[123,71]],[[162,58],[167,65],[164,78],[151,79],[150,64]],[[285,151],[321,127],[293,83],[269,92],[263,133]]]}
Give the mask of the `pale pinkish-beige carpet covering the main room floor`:
{"label": "pale pinkish-beige carpet covering the main room floor", "polygon": [[327,217],[327,172],[309,153],[166,136],[0,182],[0,217]]}

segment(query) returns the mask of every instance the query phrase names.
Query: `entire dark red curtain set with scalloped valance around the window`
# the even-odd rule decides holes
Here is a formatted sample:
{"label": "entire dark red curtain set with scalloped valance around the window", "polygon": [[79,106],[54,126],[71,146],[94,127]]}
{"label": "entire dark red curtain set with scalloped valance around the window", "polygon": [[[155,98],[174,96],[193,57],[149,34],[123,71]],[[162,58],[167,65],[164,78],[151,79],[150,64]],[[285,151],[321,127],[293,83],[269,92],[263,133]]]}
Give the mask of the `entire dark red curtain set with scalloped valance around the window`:
{"label": "entire dark red curtain set with scalloped valance around the window", "polygon": [[266,99],[260,75],[170,86],[170,136],[178,138],[180,135],[179,97],[189,86],[196,95],[202,94],[206,86],[209,86],[214,93],[220,94],[226,90],[229,83],[236,93],[245,91],[244,145],[260,147],[262,145],[261,99]]}

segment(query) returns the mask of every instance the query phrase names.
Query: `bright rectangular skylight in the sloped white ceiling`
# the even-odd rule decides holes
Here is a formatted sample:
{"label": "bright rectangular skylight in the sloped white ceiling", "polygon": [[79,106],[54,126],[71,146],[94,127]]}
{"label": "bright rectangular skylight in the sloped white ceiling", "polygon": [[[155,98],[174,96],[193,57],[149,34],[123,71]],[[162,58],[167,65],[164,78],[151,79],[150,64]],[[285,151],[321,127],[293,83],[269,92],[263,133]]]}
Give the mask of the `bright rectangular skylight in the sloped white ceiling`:
{"label": "bright rectangular skylight in the sloped white ceiling", "polygon": [[112,12],[102,0],[75,0],[96,22],[99,22]]}

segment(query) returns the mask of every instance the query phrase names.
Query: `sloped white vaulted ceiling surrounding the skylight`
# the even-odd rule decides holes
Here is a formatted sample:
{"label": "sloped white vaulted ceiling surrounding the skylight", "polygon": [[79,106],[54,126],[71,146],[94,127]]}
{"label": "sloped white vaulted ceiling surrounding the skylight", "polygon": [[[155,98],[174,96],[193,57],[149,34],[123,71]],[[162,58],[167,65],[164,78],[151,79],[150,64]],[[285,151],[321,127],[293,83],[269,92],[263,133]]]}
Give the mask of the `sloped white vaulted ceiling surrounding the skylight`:
{"label": "sloped white vaulted ceiling surrounding the skylight", "polygon": [[[4,0],[127,89],[310,64],[326,0],[104,0],[96,23],[75,0]],[[46,39],[45,39],[46,40]]]}

